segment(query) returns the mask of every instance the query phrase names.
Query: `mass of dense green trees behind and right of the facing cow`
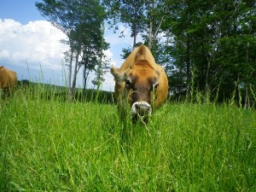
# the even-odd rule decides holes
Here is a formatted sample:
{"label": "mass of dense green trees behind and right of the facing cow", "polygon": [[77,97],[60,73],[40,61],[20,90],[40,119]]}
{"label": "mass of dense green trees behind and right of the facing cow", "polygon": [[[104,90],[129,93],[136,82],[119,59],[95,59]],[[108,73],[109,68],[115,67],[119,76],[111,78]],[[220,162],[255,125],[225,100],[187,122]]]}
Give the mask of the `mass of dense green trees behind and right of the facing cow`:
{"label": "mass of dense green trees behind and right of the facing cow", "polygon": [[[137,32],[155,60],[165,67],[170,91],[176,99],[191,99],[190,91],[198,90],[205,100],[213,101],[217,96],[218,102],[224,102],[232,98],[236,89],[241,91],[241,97],[253,99],[253,93],[247,91],[255,86],[256,77],[253,1],[107,0],[103,3],[110,19],[143,24]],[[138,4],[143,12],[134,11]],[[134,34],[132,31],[131,37]],[[125,58],[130,48],[123,50]],[[234,86],[236,82],[238,87]]]}

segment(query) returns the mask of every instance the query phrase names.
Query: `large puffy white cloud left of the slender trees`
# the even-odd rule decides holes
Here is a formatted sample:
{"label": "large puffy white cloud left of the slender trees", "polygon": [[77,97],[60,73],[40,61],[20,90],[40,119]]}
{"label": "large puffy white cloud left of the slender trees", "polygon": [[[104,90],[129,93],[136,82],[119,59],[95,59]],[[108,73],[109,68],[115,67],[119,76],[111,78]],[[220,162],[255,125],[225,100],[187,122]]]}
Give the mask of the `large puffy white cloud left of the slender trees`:
{"label": "large puffy white cloud left of the slender trees", "polygon": [[[51,26],[48,21],[30,21],[21,25],[15,20],[0,20],[0,61],[9,61],[14,65],[24,66],[24,61],[41,64],[46,69],[61,69],[63,52],[67,45],[60,40],[66,35]],[[38,65],[32,65],[38,68]]]}

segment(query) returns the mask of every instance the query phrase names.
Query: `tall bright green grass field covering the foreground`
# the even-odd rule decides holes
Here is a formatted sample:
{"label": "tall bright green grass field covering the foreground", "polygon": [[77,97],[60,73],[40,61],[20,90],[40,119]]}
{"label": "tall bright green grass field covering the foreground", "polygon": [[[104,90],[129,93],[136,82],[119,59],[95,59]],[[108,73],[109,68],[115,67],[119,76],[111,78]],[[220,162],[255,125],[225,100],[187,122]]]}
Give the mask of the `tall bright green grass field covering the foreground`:
{"label": "tall bright green grass field covering the foreground", "polygon": [[166,103],[132,125],[40,91],[1,101],[0,191],[256,191],[254,110]]}

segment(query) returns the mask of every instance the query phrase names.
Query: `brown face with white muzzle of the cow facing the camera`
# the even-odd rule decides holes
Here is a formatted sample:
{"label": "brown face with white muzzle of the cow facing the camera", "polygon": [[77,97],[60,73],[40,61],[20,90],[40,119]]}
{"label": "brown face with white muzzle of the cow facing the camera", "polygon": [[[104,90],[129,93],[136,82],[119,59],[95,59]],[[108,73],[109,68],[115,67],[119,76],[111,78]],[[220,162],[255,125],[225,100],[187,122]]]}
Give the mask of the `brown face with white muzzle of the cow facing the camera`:
{"label": "brown face with white muzzle of the cow facing the camera", "polygon": [[150,115],[154,106],[154,93],[158,87],[159,73],[149,65],[148,61],[137,61],[125,72],[112,67],[111,73],[120,87],[118,95],[124,96],[123,99],[129,102],[131,113]]}

